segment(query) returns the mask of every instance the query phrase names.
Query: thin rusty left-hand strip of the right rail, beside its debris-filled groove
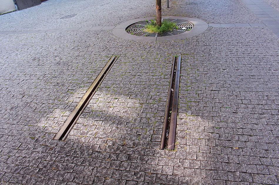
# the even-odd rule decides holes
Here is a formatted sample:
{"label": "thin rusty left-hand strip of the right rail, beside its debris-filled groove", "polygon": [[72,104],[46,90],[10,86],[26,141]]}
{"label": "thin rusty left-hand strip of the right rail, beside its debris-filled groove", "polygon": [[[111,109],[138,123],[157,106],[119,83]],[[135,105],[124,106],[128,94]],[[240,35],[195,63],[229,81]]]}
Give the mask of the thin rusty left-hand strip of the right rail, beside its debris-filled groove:
{"label": "thin rusty left-hand strip of the right rail, beside its debris-filled groove", "polygon": [[166,145],[166,134],[167,134],[167,123],[168,123],[168,114],[170,112],[171,104],[171,87],[173,85],[173,73],[174,73],[174,63],[175,63],[175,57],[173,57],[173,65],[171,68],[171,81],[170,81],[170,88],[168,90],[168,99],[166,103],[166,110],[165,110],[165,119],[164,119],[164,125],[163,125],[163,132],[162,132],[162,139],[161,139],[161,146],[160,149],[164,149]]}

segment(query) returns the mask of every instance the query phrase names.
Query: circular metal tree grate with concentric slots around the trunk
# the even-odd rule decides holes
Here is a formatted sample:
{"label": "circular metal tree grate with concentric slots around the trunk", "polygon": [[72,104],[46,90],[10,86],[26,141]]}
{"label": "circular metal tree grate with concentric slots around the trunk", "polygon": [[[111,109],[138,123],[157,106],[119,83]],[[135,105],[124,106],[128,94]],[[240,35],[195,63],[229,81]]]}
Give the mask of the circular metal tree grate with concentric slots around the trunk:
{"label": "circular metal tree grate with concentric slots around the trunk", "polygon": [[171,36],[171,35],[184,33],[186,31],[191,30],[194,27],[193,23],[182,19],[163,19],[162,21],[164,20],[176,23],[176,26],[178,28],[175,28],[171,31],[167,31],[165,33],[149,33],[145,31],[145,26],[151,23],[151,20],[144,20],[144,21],[133,23],[130,26],[128,26],[126,28],[126,32],[136,36],[163,37],[163,36]]}

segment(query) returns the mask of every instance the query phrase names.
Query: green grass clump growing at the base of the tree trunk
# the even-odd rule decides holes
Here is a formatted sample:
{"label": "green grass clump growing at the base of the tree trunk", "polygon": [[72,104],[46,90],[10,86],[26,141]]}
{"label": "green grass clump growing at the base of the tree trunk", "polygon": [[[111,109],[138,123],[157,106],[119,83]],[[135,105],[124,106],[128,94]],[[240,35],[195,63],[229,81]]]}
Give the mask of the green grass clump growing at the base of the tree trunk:
{"label": "green grass clump growing at the base of the tree trunk", "polygon": [[[146,20],[146,22],[148,22]],[[156,22],[151,20],[151,23],[145,26],[147,32],[149,33],[164,33],[166,31],[171,31],[173,28],[178,28],[175,23],[172,23],[168,20],[162,22],[161,27],[156,25]]]}

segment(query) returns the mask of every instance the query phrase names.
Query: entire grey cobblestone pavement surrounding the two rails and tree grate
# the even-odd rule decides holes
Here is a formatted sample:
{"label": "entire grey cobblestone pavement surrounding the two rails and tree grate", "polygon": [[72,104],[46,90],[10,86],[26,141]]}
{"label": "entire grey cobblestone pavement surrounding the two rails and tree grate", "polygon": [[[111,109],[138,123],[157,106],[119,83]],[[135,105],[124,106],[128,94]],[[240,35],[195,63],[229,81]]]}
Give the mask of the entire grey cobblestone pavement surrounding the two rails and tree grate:
{"label": "entire grey cobblestone pavement surrounding the two rails and tree grate", "polygon": [[[155,2],[140,3],[49,0],[0,16],[0,31],[152,16]],[[240,0],[170,6],[164,15],[262,23]],[[33,14],[29,23],[24,15]],[[0,35],[0,184],[278,184],[279,38],[255,25],[156,43],[111,29]],[[53,140],[112,55],[118,60],[67,139]],[[182,63],[170,151],[159,146],[174,55]]]}

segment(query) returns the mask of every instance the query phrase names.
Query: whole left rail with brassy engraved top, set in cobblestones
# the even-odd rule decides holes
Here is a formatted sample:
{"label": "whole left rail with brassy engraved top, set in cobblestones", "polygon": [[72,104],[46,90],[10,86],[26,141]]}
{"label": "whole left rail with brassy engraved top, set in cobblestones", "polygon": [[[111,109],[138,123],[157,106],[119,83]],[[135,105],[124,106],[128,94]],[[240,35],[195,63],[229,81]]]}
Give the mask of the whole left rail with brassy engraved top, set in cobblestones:
{"label": "whole left rail with brassy engraved top, set in cobblestones", "polygon": [[69,115],[67,120],[65,121],[64,125],[61,127],[59,132],[54,137],[55,140],[65,140],[69,132],[71,131],[71,128],[76,123],[78,118],[80,117],[82,111],[85,109],[86,105],[89,103],[91,98],[96,92],[96,89],[99,87],[101,82],[103,81],[104,77],[106,76],[106,73],[111,68],[111,64],[116,61],[116,57],[113,56],[108,61],[108,63],[105,65],[103,70],[100,72],[100,74],[97,76],[97,78],[94,80],[90,88],[86,91],[85,95],[82,97],[81,101],[78,103],[76,108],[73,110],[73,112]]}

